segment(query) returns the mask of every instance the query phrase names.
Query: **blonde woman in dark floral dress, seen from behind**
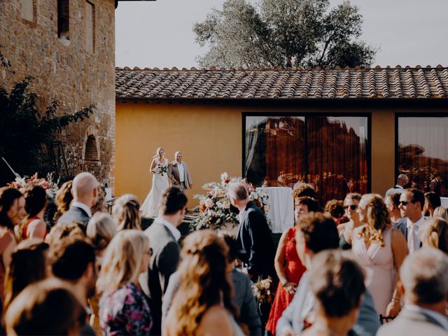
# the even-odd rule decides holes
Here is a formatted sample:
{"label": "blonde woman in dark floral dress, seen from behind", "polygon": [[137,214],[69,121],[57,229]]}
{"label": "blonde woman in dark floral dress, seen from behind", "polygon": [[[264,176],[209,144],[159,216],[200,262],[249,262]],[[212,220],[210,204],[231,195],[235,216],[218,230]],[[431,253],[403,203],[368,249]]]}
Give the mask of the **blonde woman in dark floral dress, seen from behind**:
{"label": "blonde woman in dark floral dress, seen from behind", "polygon": [[150,256],[148,237],[141,230],[123,230],[113,237],[97,281],[103,335],[150,335],[151,314],[138,281]]}

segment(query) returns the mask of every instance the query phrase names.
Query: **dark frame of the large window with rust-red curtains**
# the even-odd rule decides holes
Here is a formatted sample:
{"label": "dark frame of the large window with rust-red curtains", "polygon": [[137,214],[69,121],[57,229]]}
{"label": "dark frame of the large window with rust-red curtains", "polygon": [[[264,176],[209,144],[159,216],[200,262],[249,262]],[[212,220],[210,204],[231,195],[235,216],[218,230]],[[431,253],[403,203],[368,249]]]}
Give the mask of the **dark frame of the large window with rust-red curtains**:
{"label": "dark frame of the large window with rust-red curtains", "polygon": [[[305,151],[305,162],[308,162],[308,152],[309,152],[309,144],[308,144],[308,120],[309,117],[365,117],[367,118],[367,144],[365,146],[365,158],[367,160],[367,193],[372,193],[372,113],[371,112],[349,112],[349,113],[340,113],[340,112],[241,112],[242,118],[242,132],[241,132],[241,146],[242,146],[242,156],[241,156],[241,176],[244,178],[245,172],[245,162],[246,162],[246,117],[303,117],[304,118],[304,151]],[[305,181],[308,182],[308,174],[309,171],[307,169],[307,165],[305,165]]]}

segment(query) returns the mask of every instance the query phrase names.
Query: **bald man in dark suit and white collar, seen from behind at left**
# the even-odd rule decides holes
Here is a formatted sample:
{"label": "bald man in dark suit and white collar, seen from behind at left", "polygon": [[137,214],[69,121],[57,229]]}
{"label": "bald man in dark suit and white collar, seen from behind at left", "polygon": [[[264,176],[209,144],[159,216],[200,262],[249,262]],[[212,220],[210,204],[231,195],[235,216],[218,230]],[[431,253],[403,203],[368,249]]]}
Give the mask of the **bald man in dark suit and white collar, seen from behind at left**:
{"label": "bald man in dark suit and white collar, seen from behind at left", "polygon": [[87,223],[92,217],[91,209],[97,200],[97,187],[97,179],[92,174],[83,172],[76,175],[71,187],[73,201],[70,209],[62,214],[57,224],[78,222],[83,224],[84,228],[87,228]]}

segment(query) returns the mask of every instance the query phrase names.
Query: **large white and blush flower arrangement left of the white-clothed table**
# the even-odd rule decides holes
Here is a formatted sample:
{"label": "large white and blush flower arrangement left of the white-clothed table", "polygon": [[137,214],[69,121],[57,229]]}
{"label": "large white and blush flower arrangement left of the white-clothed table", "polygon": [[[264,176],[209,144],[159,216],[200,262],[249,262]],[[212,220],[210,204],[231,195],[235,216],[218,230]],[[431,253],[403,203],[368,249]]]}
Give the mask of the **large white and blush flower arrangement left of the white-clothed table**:
{"label": "large white and blush flower arrangement left of the white-clothed table", "polygon": [[[229,177],[227,173],[221,174],[221,183],[205,183],[202,188],[207,190],[206,195],[195,195],[194,198],[200,200],[199,216],[192,223],[194,229],[218,229],[226,223],[236,225],[238,223],[238,214],[232,207],[228,195],[229,183],[240,182],[246,185],[249,200],[253,201],[265,213],[269,210],[267,206],[267,194],[258,191],[251,183],[246,183],[241,177]],[[233,208],[233,209],[232,209]]]}

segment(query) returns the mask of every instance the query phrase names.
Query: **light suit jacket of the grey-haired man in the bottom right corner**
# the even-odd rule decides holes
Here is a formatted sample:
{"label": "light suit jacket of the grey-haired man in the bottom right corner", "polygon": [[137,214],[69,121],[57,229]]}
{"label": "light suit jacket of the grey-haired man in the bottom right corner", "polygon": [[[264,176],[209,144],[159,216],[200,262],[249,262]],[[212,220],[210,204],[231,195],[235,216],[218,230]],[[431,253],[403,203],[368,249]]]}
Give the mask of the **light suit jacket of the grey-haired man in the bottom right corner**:
{"label": "light suit jacket of the grey-haired man in the bottom right corner", "polygon": [[[442,316],[443,318],[444,316]],[[447,336],[448,330],[435,318],[421,311],[403,309],[390,323],[379,328],[377,336]]]}

